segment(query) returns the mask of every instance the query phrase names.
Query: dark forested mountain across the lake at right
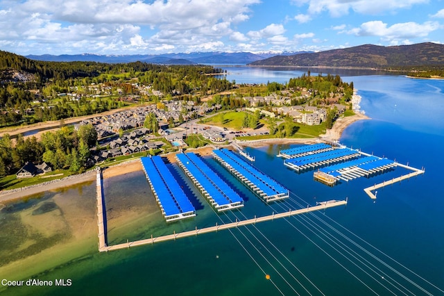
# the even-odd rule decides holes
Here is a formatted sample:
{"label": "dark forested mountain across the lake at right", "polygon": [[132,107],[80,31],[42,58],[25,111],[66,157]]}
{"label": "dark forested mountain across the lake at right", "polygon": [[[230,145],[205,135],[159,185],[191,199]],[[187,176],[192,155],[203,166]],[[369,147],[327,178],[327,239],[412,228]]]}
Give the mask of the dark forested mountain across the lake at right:
{"label": "dark forested mountain across the lake at right", "polygon": [[383,47],[364,44],[292,56],[273,56],[248,65],[300,67],[412,67],[444,65],[444,44],[432,42]]}

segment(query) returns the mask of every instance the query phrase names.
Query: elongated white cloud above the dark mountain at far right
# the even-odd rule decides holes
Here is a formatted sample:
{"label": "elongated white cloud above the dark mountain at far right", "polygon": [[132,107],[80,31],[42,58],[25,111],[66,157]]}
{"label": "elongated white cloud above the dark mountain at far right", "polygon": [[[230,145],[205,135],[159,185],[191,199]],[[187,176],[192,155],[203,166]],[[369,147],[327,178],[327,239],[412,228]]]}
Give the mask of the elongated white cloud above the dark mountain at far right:
{"label": "elongated white cloud above the dark mountain at far right", "polygon": [[381,21],[371,21],[361,24],[359,28],[353,28],[349,33],[358,36],[377,36],[381,37],[382,40],[390,41],[426,37],[438,28],[439,24],[437,22],[425,22],[424,24],[406,22],[388,26]]}

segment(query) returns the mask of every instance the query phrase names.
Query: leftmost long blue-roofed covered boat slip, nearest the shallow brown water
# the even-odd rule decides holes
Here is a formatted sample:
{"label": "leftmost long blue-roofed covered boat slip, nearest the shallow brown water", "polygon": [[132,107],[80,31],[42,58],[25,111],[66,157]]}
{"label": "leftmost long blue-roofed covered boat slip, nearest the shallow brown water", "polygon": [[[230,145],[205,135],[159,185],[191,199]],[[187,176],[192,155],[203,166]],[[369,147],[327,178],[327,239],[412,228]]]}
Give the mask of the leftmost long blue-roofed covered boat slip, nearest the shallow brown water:
{"label": "leftmost long blue-roofed covered boat slip, nearest the shallow brown water", "polygon": [[148,183],[165,220],[194,217],[196,210],[160,156],[140,158]]}

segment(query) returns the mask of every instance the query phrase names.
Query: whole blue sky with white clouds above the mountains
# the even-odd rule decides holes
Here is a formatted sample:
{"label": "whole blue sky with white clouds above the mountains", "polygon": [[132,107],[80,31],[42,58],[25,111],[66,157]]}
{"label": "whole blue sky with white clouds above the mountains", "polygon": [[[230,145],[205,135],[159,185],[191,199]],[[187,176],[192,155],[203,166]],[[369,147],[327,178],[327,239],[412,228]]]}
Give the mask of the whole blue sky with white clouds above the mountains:
{"label": "whole blue sky with white clouds above the mountains", "polygon": [[323,51],[444,43],[444,0],[0,0],[16,54]]}

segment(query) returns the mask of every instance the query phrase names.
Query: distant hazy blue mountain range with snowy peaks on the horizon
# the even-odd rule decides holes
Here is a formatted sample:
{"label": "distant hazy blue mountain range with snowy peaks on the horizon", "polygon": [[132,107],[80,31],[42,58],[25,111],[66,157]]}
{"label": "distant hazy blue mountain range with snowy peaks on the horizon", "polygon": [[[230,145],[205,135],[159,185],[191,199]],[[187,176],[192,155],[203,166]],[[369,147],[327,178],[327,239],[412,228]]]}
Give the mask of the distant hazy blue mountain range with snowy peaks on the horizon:
{"label": "distant hazy blue mountain range with snowy peaks on the horizon", "polygon": [[29,55],[26,58],[31,60],[44,60],[49,62],[99,62],[99,63],[130,63],[130,62],[146,62],[153,64],[164,65],[192,65],[192,64],[237,64],[246,65],[257,60],[264,60],[271,56],[280,55],[294,55],[300,53],[307,53],[307,51],[300,52],[276,52],[267,51],[257,54],[250,52],[194,52],[182,54],[137,54],[137,55],[97,55],[97,54],[62,54],[54,56],[44,54],[41,56]]}

